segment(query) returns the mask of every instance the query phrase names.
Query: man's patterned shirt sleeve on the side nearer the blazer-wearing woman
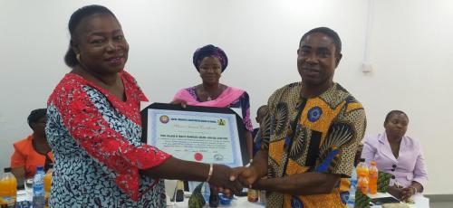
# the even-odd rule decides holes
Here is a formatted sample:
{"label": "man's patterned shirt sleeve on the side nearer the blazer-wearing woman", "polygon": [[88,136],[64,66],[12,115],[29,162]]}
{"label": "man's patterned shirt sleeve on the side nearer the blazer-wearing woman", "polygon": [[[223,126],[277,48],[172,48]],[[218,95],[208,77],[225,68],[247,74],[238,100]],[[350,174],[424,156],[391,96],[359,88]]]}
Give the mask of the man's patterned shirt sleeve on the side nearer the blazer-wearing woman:
{"label": "man's patterned shirt sleeve on the side nearer the blazer-wearing woman", "polygon": [[343,112],[333,120],[320,149],[318,172],[351,176],[356,149],[366,127],[365,110],[360,103],[356,105],[356,109]]}

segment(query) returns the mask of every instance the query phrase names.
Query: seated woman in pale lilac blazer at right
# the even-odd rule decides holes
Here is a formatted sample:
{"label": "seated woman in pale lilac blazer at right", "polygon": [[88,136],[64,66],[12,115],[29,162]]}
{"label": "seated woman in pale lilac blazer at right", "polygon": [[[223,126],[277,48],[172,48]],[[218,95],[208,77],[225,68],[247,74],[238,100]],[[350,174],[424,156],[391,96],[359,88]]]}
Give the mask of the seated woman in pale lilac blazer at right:
{"label": "seated woman in pale lilac blazer at right", "polygon": [[419,142],[404,134],[409,118],[403,111],[391,110],[384,121],[385,132],[366,137],[361,157],[376,161],[380,171],[393,175],[389,193],[403,201],[423,192],[428,182]]}

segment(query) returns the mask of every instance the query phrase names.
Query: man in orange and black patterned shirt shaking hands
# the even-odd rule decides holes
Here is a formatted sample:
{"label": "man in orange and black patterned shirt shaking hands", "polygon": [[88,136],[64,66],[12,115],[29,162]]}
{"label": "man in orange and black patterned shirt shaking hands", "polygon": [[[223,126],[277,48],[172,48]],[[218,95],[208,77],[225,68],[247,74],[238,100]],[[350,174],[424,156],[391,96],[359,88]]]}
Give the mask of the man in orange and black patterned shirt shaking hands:
{"label": "man in orange and black patterned shirt shaking hands", "polygon": [[302,81],[269,98],[261,149],[252,165],[232,175],[267,190],[267,207],[346,206],[366,118],[361,103],[333,82],[341,52],[340,37],[330,28],[304,34],[297,50]]}

